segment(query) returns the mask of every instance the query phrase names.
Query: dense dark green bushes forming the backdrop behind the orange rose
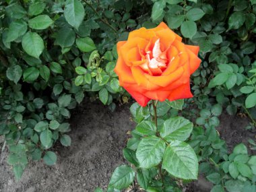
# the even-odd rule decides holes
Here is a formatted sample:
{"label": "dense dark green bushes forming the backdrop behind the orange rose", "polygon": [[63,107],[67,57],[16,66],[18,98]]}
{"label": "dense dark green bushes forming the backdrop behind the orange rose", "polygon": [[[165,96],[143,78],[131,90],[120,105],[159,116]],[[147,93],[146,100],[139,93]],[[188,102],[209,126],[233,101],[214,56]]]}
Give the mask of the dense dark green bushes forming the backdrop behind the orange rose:
{"label": "dense dark green bushes forming the backdrop behind the orange rose", "polygon": [[[113,71],[116,43],[131,30],[164,21],[183,42],[200,46],[202,63],[191,81],[194,97],[185,100],[182,111],[195,119],[188,142],[200,170],[216,184],[212,191],[232,191],[234,183],[255,186],[254,157],[228,154],[215,129],[224,110],[245,113],[251,119],[247,129],[256,126],[255,14],[255,0],[2,1],[0,135],[15,177],[22,177],[30,160],[55,164],[51,148],[58,141],[71,145],[67,120],[85,96],[99,98],[110,110],[115,110],[113,100],[129,100]],[[178,114],[162,105],[166,119]],[[132,113],[140,123],[148,112]],[[233,162],[240,158],[252,174],[241,166],[237,173]]]}

